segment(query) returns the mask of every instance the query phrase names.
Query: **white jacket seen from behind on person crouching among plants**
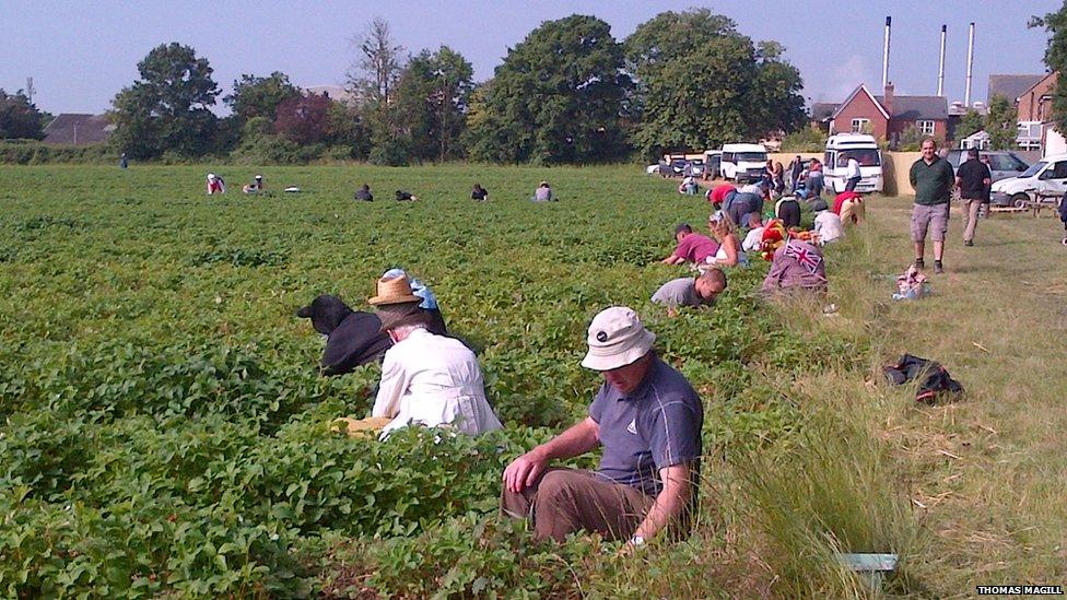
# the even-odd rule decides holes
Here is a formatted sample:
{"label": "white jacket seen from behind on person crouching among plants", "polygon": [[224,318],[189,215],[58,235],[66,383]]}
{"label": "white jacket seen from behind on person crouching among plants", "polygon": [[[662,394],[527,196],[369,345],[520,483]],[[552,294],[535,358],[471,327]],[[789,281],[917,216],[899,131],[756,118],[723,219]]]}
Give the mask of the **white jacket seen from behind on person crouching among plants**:
{"label": "white jacket seen from behind on person crouching among plants", "polygon": [[452,425],[469,435],[503,427],[485,399],[474,353],[425,329],[413,330],[385,353],[371,415],[392,419],[383,437],[411,423]]}

